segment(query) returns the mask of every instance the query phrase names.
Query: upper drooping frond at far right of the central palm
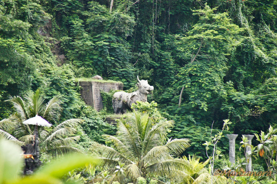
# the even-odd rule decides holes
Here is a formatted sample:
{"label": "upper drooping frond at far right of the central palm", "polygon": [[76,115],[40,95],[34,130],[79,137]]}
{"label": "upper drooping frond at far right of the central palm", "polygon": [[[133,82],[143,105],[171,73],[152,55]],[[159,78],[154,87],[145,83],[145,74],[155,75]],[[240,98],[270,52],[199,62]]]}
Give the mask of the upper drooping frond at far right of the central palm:
{"label": "upper drooping frond at far right of the central palm", "polygon": [[190,146],[189,142],[190,140],[186,138],[173,140],[170,138],[165,146],[169,148],[171,154],[179,156]]}

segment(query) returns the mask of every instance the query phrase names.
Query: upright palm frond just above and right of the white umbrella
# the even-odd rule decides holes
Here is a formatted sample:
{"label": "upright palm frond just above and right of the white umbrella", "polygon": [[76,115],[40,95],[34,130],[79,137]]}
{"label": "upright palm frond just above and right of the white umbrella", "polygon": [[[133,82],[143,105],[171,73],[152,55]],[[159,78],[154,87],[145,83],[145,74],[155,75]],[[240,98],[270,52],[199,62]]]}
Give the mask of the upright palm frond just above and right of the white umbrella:
{"label": "upright palm frond just above and right of the white umbrella", "polygon": [[49,100],[47,104],[43,107],[43,115],[42,117],[46,119],[47,121],[56,121],[59,120],[62,107],[61,107],[62,101],[60,100],[59,95],[54,96]]}

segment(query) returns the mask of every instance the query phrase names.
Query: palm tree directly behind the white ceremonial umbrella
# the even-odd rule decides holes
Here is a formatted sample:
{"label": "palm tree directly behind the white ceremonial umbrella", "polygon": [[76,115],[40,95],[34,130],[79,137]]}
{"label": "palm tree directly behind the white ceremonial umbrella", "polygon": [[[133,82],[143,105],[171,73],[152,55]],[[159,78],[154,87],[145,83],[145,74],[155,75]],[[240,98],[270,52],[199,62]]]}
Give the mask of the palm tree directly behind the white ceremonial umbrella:
{"label": "palm tree directly behind the white ceremonial umbrella", "polygon": [[8,119],[0,121],[0,135],[15,141],[19,144],[30,143],[34,139],[34,126],[25,125],[23,122],[36,115],[41,116],[57,126],[51,128],[38,127],[41,152],[55,156],[71,150],[76,150],[71,146],[72,142],[79,139],[75,136],[76,127],[83,122],[81,119],[68,119],[58,123],[62,111],[62,101],[59,96],[51,98],[47,103],[45,94],[40,90],[29,92],[23,98],[16,96],[6,100],[11,102],[15,113]]}

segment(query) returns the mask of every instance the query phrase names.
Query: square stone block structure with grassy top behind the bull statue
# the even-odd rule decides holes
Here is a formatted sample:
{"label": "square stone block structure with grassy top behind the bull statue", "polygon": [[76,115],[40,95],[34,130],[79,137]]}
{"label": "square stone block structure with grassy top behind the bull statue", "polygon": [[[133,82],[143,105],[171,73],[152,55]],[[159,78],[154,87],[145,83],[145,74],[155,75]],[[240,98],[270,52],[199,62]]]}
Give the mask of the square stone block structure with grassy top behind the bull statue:
{"label": "square stone block structure with grassy top behind the bull statue", "polygon": [[[109,92],[110,90],[123,90],[123,84],[121,82],[105,82],[101,80],[102,77],[94,76],[92,81],[80,81],[81,96],[85,103],[92,106],[95,110],[100,111],[103,109],[103,102],[100,90]],[[95,79],[98,79],[99,82]],[[111,104],[112,105],[112,104]]]}

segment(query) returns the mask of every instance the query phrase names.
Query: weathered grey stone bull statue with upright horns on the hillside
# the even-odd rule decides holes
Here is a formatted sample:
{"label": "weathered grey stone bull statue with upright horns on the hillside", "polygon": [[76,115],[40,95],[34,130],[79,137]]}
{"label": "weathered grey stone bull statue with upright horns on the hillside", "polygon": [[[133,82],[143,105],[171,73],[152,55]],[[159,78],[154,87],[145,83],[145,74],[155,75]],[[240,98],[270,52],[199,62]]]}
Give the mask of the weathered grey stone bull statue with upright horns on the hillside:
{"label": "weathered grey stone bull statue with upright horns on the hillside", "polygon": [[138,90],[132,93],[124,91],[116,92],[112,97],[112,108],[116,114],[124,114],[127,109],[131,109],[132,103],[136,101],[147,102],[147,95],[150,94],[154,87],[150,86],[147,80],[140,80],[137,76]]}

